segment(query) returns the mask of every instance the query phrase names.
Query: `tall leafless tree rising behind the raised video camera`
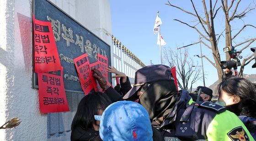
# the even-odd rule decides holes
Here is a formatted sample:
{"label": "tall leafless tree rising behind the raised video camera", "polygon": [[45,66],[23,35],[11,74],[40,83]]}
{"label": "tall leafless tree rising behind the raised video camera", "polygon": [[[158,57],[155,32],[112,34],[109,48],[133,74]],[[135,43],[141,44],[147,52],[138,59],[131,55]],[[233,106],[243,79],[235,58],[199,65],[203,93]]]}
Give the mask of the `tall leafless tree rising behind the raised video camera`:
{"label": "tall leafless tree rising behind the raised video camera", "polygon": [[[236,18],[239,18],[241,19],[242,17],[244,17],[249,11],[253,10],[254,8],[246,8],[243,12],[241,13],[237,13],[237,7],[240,3],[241,0],[239,0],[236,5],[235,5],[235,9],[233,10],[231,16],[229,16],[229,11],[230,9],[232,9],[232,6],[233,6],[233,3],[234,3],[235,0],[232,0],[231,1],[231,4],[229,6],[227,6],[227,0],[221,0],[222,4],[217,6],[217,2],[218,0],[215,0],[214,4],[212,2],[212,0],[209,0],[208,1],[208,7],[206,6],[206,3],[205,3],[205,0],[202,0],[202,4],[203,4],[203,10],[204,10],[204,13],[203,14],[198,14],[197,12],[197,9],[193,3],[193,0],[190,0],[191,2],[191,5],[193,7],[193,12],[190,12],[190,11],[187,11],[185,9],[182,9],[181,7],[178,7],[176,5],[172,5],[169,1],[168,1],[168,4],[166,5],[170,5],[172,7],[175,7],[176,9],[179,9],[189,15],[192,15],[194,16],[196,19],[197,19],[197,23],[195,25],[190,25],[184,21],[181,21],[181,20],[178,20],[178,19],[174,19],[175,21],[179,21],[180,23],[182,24],[185,24],[193,29],[195,29],[200,36],[203,37],[203,39],[205,39],[207,42],[210,43],[210,45],[208,45],[207,42],[204,42],[202,40],[200,40],[199,42],[202,42],[206,47],[208,47],[209,49],[211,49],[212,51],[212,54],[213,54],[213,59],[214,59],[214,62],[213,63],[212,61],[210,61],[209,58],[207,58],[208,61],[210,61],[210,63],[217,69],[217,73],[218,73],[218,78],[219,78],[219,81],[222,81],[222,75],[223,75],[223,70],[222,68],[220,67],[220,54],[219,54],[219,49],[218,49],[218,43],[219,43],[219,39],[222,35],[219,34],[219,37],[217,38],[216,34],[215,34],[215,29],[214,29],[214,18],[216,17],[218,11],[220,8],[223,9],[224,11],[224,15],[225,15],[225,23],[226,23],[226,28],[224,31],[226,31],[226,46],[232,46],[232,40],[237,37],[238,34],[240,34],[240,32],[246,27],[246,26],[251,26],[251,27],[255,27],[255,26],[252,26],[252,25],[245,25],[244,27],[241,28],[241,30],[235,34],[234,37],[231,37],[231,26],[230,26],[230,21],[236,19]],[[225,4],[224,4],[225,2]],[[248,6],[249,7],[249,6]],[[203,16],[202,16],[203,15]],[[223,32],[224,32],[223,31]],[[253,38],[253,39],[249,39],[245,42],[242,42],[240,44],[237,44],[235,45],[234,47],[237,47],[237,46],[240,46],[246,42],[249,42],[245,47],[243,47],[243,49],[245,49],[246,47],[249,47],[250,44],[252,42],[254,42],[256,40],[256,38]],[[194,45],[194,44],[197,44],[199,42],[195,42],[195,43],[192,43],[191,45]],[[191,46],[191,45],[187,45],[187,46],[184,46],[184,47],[188,47],[188,46]],[[242,50],[243,50],[242,49]],[[206,58],[206,56],[203,56]],[[228,55],[226,55],[226,57],[229,58]],[[248,57],[248,58],[245,58],[245,61],[248,60],[250,61],[251,60],[251,56]],[[248,63],[242,63],[242,65],[246,65]],[[242,66],[241,68],[244,69],[244,66]],[[242,71],[242,70],[241,70]]]}

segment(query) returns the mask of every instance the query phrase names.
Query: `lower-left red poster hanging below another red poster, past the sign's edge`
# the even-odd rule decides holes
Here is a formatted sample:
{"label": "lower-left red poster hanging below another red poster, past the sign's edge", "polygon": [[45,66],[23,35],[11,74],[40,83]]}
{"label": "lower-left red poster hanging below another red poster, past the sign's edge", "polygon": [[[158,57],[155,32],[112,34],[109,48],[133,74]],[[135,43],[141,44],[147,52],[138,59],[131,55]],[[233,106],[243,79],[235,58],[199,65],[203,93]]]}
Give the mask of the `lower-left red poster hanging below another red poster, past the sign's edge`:
{"label": "lower-left red poster hanging below another red poster, past the sign's edge", "polygon": [[41,113],[69,111],[63,82],[63,68],[48,73],[37,73],[37,78]]}

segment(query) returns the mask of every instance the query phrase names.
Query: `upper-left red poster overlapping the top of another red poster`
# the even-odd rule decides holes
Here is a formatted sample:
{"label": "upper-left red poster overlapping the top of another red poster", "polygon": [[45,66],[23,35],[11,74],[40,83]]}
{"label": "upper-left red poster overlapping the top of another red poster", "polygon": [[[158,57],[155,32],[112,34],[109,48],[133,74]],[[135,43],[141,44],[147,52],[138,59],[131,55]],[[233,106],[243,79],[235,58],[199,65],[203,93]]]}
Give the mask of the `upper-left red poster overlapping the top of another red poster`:
{"label": "upper-left red poster overlapping the top of another red poster", "polygon": [[59,54],[53,36],[51,22],[34,21],[34,63],[35,72],[60,70]]}

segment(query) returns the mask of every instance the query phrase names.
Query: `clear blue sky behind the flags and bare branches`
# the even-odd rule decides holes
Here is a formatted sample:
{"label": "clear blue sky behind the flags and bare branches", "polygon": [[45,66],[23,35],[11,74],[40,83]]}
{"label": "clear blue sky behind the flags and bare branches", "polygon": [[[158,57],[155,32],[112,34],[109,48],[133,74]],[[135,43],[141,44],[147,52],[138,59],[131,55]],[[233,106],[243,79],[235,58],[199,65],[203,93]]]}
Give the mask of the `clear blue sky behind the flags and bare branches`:
{"label": "clear blue sky behind the flags and bare branches", "polygon": [[[133,54],[135,54],[139,59],[145,64],[150,65],[150,60],[154,64],[160,64],[160,52],[159,46],[156,44],[157,35],[153,33],[153,27],[155,22],[155,17],[157,11],[160,11],[160,18],[163,22],[161,25],[161,35],[167,43],[164,47],[170,47],[176,50],[177,47],[191,44],[197,42],[199,39],[199,34],[194,29],[179,23],[178,21],[173,21],[173,19],[179,19],[181,21],[187,22],[194,25],[196,17],[188,15],[181,10],[174,7],[165,5],[168,3],[167,0],[109,0],[111,6],[111,18],[112,18],[112,34],[116,37],[122,44],[127,47]],[[206,0],[208,2],[208,0]],[[220,5],[218,1],[217,5]],[[250,0],[251,6],[256,3]],[[170,0],[171,4],[180,6],[181,8],[194,12],[192,9],[192,4],[190,0]],[[214,0],[213,0],[214,2]],[[194,0],[194,4],[197,8],[197,12],[203,14],[203,5],[201,0]],[[236,1],[235,1],[236,4]],[[235,4],[233,5],[235,7]],[[246,6],[249,5],[248,0],[240,2],[238,7],[238,12],[244,10]],[[232,10],[232,9],[231,9]],[[241,20],[235,20],[231,22],[231,28],[233,29],[232,34],[235,35],[237,31],[245,24],[252,24],[256,26],[255,20],[256,10],[247,14],[247,16]],[[220,34],[224,30],[225,21],[223,10],[220,9],[217,17],[214,21],[216,34]],[[256,37],[256,29],[252,27],[245,28],[240,36],[235,38],[233,45],[245,41],[247,38]],[[205,35],[205,33],[204,33]],[[207,41],[205,41],[207,42]],[[209,42],[208,42],[208,45]],[[219,41],[219,51],[221,60],[225,60],[223,47],[225,45],[225,38],[222,37]],[[245,46],[245,45],[244,45]],[[237,47],[236,49],[241,49],[244,46]],[[256,47],[256,42],[251,44],[250,47]],[[242,56],[245,58],[251,55],[250,47],[242,52]],[[189,51],[189,56],[201,65],[201,59],[194,57],[200,53],[199,44],[187,47]],[[211,50],[202,45],[203,55],[207,56],[213,61]],[[242,62],[243,59],[240,61]],[[252,61],[249,65],[245,67],[244,73],[254,74],[256,68],[251,68]],[[205,78],[206,86],[213,84],[217,81],[217,70],[206,60],[203,59],[204,72],[207,74]],[[240,69],[240,67],[238,67]],[[203,85],[203,80],[197,81],[193,87],[198,85]]]}

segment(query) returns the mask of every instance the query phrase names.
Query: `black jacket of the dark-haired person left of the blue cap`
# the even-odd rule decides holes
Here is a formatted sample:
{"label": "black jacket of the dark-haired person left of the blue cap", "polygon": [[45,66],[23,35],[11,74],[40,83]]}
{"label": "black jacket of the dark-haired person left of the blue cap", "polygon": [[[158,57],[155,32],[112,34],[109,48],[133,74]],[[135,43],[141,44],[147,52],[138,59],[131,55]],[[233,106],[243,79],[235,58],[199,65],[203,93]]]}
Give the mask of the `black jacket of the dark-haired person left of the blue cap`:
{"label": "black jacket of the dark-haired person left of the blue cap", "polygon": [[94,141],[99,136],[99,131],[93,129],[83,129],[81,127],[75,128],[71,131],[71,141]]}

